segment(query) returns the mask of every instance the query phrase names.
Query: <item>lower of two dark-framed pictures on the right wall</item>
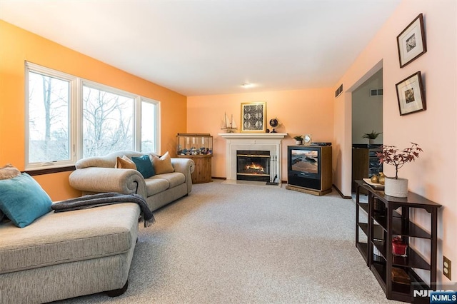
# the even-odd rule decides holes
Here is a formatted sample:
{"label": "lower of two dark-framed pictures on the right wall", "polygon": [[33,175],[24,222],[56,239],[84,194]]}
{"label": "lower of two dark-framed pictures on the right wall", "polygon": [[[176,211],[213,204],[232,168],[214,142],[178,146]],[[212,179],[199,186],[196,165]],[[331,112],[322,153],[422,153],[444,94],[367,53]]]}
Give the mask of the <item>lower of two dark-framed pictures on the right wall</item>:
{"label": "lower of two dark-framed pictures on the right wall", "polygon": [[396,84],[400,115],[426,110],[426,98],[422,89],[421,72],[417,72]]}

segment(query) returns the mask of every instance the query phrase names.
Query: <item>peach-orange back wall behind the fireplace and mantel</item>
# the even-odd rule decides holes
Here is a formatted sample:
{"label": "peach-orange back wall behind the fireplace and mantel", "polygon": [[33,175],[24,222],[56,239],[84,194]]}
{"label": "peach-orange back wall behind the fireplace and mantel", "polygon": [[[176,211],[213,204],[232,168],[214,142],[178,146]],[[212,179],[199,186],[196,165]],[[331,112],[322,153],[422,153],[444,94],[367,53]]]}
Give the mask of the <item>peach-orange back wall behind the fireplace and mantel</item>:
{"label": "peach-orange back wall behind the fireplace and mantel", "polygon": [[[278,132],[288,133],[283,141],[281,179],[287,179],[287,146],[294,144],[293,136],[312,134],[313,141],[331,141],[333,138],[333,89],[315,88],[295,91],[271,91],[187,98],[187,131],[211,133],[214,146],[212,176],[226,177],[226,140],[218,136],[224,113],[233,114],[240,125],[241,103],[266,102],[267,123],[278,118]],[[268,128],[271,127],[268,125]],[[239,128],[238,128],[239,131]]]}

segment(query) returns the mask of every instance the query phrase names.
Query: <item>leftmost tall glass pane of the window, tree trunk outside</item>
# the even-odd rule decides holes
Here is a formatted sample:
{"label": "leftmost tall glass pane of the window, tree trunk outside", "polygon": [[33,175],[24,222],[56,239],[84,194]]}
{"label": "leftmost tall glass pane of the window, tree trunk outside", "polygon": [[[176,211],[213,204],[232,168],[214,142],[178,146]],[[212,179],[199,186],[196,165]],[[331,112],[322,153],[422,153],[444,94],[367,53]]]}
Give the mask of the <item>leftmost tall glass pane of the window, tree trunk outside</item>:
{"label": "leftmost tall glass pane of the window, tree trunk outside", "polygon": [[69,81],[29,73],[29,163],[69,156]]}

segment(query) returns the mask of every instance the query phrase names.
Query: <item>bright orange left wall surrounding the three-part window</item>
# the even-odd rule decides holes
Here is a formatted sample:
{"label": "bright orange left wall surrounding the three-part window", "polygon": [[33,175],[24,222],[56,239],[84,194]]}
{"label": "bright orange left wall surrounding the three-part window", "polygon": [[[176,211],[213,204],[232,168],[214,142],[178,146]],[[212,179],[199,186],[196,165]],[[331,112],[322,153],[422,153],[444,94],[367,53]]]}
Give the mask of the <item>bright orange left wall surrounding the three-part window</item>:
{"label": "bright orange left wall surrounding the three-part window", "polygon": [[[104,64],[0,20],[0,166],[24,170],[24,61],[120,88],[161,102],[161,151],[175,151],[176,133],[186,130],[186,96]],[[69,172],[36,176],[54,201],[80,195]]]}

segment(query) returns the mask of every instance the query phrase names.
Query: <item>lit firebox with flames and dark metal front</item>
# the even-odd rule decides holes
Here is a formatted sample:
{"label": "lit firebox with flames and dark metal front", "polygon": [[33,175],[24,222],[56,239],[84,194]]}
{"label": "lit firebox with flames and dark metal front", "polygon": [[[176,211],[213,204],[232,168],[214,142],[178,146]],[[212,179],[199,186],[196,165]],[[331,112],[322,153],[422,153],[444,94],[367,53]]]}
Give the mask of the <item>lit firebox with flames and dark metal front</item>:
{"label": "lit firebox with flames and dark metal front", "polygon": [[270,181],[270,151],[236,151],[236,179]]}

